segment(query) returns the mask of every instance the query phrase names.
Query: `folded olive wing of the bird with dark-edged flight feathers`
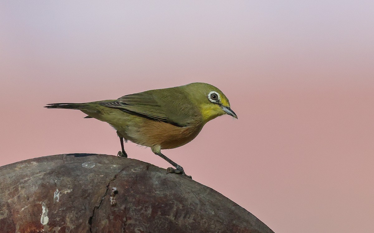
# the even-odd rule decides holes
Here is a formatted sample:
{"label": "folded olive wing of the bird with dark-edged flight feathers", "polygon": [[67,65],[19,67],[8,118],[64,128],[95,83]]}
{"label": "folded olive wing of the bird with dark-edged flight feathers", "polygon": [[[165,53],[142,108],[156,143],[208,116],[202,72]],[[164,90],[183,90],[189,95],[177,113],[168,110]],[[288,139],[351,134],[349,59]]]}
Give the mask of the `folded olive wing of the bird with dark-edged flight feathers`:
{"label": "folded olive wing of the bird with dark-edged flight feathers", "polygon": [[157,102],[150,92],[140,92],[125,95],[111,102],[102,102],[102,106],[117,108],[122,111],[137,114],[153,120],[160,120],[173,125],[181,126],[169,119],[165,109]]}

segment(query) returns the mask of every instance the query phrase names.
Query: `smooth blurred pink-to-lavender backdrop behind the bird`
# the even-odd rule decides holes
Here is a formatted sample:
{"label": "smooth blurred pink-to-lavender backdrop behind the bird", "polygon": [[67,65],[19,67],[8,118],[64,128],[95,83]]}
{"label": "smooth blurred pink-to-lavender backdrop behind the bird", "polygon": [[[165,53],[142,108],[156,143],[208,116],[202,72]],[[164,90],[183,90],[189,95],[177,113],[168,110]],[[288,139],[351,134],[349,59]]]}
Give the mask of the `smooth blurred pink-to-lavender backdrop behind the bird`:
{"label": "smooth blurred pink-to-lavender backdrop behind the bird", "polygon": [[0,77],[0,165],[119,151],[107,123],[47,103],[207,82],[239,120],[165,155],[277,233],[374,232],[372,0],[1,1]]}

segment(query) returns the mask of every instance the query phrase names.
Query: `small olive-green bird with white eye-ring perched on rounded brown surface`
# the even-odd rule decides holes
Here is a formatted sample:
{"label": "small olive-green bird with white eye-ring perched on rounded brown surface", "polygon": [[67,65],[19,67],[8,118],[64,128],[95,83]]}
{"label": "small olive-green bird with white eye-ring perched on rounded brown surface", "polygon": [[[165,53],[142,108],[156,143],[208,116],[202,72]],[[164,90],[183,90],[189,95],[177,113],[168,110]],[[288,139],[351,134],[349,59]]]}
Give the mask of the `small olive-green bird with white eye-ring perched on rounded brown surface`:
{"label": "small olive-green bird with white eye-ring perched on rounded brown surface", "polygon": [[128,157],[123,141],[131,141],[150,147],[154,154],[175,167],[169,167],[167,173],[184,175],[183,167],[161,150],[186,145],[207,122],[218,116],[228,114],[237,119],[226,95],[202,82],[124,95],[117,100],[55,103],[45,107],[77,109],[87,114],[84,118],[107,122],[120,138],[121,151],[117,156]]}

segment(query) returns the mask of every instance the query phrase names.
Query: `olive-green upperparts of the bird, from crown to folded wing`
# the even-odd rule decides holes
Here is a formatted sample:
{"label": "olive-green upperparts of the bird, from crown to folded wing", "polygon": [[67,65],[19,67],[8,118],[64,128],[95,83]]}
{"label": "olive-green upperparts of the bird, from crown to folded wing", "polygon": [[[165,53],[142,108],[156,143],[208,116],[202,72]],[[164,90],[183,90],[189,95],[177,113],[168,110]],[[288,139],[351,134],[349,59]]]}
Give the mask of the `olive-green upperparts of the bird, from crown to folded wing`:
{"label": "olive-green upperparts of the bird, from crown to folded wing", "polygon": [[173,125],[188,126],[201,121],[200,105],[210,104],[206,97],[210,91],[218,91],[224,96],[210,84],[192,83],[125,95],[115,101],[100,104]]}

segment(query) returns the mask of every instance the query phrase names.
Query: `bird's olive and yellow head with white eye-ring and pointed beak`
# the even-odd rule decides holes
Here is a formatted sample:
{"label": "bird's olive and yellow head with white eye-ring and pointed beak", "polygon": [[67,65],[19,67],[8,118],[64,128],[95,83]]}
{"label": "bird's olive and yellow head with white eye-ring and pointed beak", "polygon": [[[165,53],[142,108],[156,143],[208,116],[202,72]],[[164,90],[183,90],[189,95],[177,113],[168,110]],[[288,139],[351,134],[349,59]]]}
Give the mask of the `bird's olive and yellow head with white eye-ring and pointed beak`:
{"label": "bird's olive and yellow head with white eye-ring and pointed beak", "polygon": [[224,114],[237,119],[230,108],[229,99],[220,89],[202,82],[187,84],[185,87],[191,101],[199,108],[204,123]]}

